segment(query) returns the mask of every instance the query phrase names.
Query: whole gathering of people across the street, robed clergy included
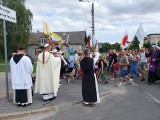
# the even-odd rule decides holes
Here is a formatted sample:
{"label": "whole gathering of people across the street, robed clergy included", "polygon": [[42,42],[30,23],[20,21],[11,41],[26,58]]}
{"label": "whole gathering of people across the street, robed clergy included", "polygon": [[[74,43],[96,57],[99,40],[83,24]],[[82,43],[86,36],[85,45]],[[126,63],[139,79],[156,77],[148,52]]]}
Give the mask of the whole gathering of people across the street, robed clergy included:
{"label": "whole gathering of people across the street, robed clergy included", "polygon": [[44,50],[37,51],[36,77],[32,77],[33,59],[24,47],[18,47],[10,59],[14,103],[23,107],[30,105],[33,91],[41,94],[44,102],[52,101],[57,97],[61,80],[74,82],[82,78],[83,105],[93,107],[100,103],[98,82],[108,84],[117,80],[116,87],[119,87],[127,82],[133,85],[137,77],[147,80],[149,85],[155,85],[160,79],[160,52],[154,45],[150,51],[142,48],[100,54],[96,47],[94,52],[89,48],[83,52],[69,48],[68,53],[65,58],[59,48],[51,50],[51,46],[45,44]]}

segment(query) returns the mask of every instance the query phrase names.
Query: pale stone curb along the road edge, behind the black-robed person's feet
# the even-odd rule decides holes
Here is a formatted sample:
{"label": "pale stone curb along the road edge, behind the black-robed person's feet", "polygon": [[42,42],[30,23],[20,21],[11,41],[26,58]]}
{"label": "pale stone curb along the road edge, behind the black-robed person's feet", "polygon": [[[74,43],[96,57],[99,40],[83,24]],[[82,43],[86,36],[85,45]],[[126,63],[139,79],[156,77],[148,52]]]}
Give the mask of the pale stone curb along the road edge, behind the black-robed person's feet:
{"label": "pale stone curb along the road edge, behind the black-robed person's feet", "polygon": [[[112,91],[102,92],[100,94],[100,98],[103,99],[106,95],[109,95],[111,93],[112,93]],[[46,107],[46,108],[33,109],[33,110],[28,110],[28,111],[23,111],[23,112],[0,114],[0,120],[11,119],[13,117],[21,117],[21,116],[26,116],[29,114],[37,114],[37,113],[43,113],[43,112],[49,112],[49,111],[55,112],[59,108],[64,108],[64,107],[68,107],[71,105],[77,105],[77,104],[81,104],[81,103],[82,103],[82,100],[75,100],[73,102],[63,103],[58,106],[50,106],[50,107]]]}

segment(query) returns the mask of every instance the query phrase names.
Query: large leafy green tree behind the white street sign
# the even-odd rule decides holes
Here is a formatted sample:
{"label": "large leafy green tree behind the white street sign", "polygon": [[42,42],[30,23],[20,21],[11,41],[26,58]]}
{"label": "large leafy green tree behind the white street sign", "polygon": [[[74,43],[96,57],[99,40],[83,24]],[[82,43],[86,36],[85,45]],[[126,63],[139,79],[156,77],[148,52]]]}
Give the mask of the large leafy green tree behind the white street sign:
{"label": "large leafy green tree behind the white street sign", "polygon": [[[3,5],[16,11],[17,23],[6,22],[6,38],[8,55],[15,52],[17,46],[23,45],[27,47],[29,34],[32,29],[31,21],[33,14],[25,7],[25,0],[3,0]],[[0,24],[2,28],[2,24]],[[3,41],[3,32],[0,34],[0,46]],[[3,47],[0,47],[3,51]]]}

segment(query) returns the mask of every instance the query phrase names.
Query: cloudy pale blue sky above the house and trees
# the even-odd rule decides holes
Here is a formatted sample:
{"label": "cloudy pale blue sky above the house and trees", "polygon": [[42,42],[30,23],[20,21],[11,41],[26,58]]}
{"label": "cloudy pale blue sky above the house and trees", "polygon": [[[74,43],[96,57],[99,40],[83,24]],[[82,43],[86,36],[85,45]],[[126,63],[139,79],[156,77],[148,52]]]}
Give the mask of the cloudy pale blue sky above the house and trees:
{"label": "cloudy pale blue sky above the house and trees", "polygon": [[126,30],[132,41],[142,23],[145,35],[160,33],[160,0],[26,0],[33,13],[32,31],[43,32],[43,22],[52,32],[84,31],[92,34],[94,1],[95,38],[120,43]]}

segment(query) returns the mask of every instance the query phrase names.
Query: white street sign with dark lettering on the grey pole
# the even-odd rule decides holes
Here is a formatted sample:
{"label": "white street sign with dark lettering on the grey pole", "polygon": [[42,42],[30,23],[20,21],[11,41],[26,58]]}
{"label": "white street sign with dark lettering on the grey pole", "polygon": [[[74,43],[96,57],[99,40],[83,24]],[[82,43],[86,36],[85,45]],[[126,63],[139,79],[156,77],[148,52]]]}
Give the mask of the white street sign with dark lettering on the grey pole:
{"label": "white street sign with dark lettering on the grey pole", "polygon": [[16,11],[0,5],[0,19],[17,23]]}

